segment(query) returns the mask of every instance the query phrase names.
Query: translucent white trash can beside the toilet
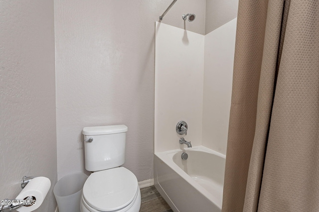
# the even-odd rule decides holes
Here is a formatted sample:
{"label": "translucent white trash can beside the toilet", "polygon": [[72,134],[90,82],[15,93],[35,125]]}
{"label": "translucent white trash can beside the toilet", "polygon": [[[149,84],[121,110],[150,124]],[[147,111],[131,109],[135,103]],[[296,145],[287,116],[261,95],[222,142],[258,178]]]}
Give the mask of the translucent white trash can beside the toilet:
{"label": "translucent white trash can beside the toilet", "polygon": [[84,173],[69,174],[55,184],[53,194],[59,212],[80,212],[82,188],[88,177]]}

